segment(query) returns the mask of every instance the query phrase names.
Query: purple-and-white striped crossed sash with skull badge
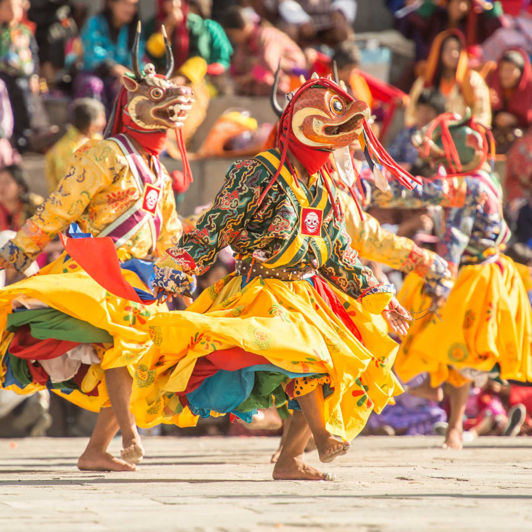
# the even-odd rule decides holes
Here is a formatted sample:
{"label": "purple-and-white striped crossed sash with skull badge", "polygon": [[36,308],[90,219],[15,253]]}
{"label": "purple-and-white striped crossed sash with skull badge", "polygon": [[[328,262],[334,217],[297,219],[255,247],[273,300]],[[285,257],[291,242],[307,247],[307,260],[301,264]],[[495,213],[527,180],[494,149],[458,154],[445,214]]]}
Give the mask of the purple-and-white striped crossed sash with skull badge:
{"label": "purple-and-white striped crossed sash with skull badge", "polygon": [[129,165],[129,169],[137,182],[142,196],[126,212],[122,213],[114,222],[110,223],[97,236],[109,236],[118,249],[125,244],[147,222],[152,234],[152,248],[155,250],[159,231],[162,226],[162,213],[159,208],[163,187],[163,171],[157,157],[153,157],[155,173],[148,168],[137,148],[126,135],[119,134],[109,137],[118,144]]}

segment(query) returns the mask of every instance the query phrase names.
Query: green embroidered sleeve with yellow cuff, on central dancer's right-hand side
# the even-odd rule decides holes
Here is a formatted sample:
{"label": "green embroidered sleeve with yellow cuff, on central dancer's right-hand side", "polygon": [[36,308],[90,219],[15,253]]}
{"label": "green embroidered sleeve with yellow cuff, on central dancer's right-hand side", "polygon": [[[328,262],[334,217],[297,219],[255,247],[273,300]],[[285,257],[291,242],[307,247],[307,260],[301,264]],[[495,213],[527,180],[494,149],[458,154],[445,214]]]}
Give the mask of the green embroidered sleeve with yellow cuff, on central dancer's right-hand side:
{"label": "green embroidered sleeve with yellow cuff, on central dancer's right-hand side", "polygon": [[345,227],[320,272],[347,295],[361,301],[373,314],[382,312],[395,295],[393,285],[379,283],[371,269],[361,264]]}

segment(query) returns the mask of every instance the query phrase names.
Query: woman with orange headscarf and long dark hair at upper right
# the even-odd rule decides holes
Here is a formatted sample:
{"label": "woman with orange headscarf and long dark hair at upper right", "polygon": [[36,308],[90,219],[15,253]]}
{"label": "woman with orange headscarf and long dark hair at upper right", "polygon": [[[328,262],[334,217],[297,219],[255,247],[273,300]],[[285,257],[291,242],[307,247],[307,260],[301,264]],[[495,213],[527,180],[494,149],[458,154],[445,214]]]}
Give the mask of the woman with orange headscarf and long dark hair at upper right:
{"label": "woman with orange headscarf and long dark hair at upper right", "polygon": [[478,72],[468,68],[465,40],[458,30],[442,31],[430,48],[425,74],[415,80],[410,90],[410,104],[405,125],[417,121],[415,105],[423,88],[436,88],[445,97],[445,110],[463,115],[467,107],[480,123],[491,125],[489,90]]}

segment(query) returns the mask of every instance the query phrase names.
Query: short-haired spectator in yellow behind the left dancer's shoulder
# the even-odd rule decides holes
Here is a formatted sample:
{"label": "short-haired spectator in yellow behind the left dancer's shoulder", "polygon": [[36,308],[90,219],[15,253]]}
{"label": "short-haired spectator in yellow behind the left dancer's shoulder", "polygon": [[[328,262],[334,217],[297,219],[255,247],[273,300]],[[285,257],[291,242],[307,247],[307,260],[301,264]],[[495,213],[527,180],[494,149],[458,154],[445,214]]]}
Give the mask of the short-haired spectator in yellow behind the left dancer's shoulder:
{"label": "short-haired spectator in yellow behind the left dancer's shoulder", "polygon": [[46,153],[45,176],[48,192],[53,192],[63,179],[72,154],[87,140],[101,138],[105,128],[105,107],[92,98],[74,100],[72,125]]}

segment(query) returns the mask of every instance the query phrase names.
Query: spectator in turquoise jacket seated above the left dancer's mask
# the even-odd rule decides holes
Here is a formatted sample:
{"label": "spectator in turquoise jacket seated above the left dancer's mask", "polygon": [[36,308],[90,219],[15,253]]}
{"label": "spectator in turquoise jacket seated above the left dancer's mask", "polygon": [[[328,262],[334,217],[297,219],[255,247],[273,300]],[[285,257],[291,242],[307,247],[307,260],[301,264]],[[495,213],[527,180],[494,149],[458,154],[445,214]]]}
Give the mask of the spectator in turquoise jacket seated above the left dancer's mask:
{"label": "spectator in turquoise jacket seated above the left dancer's mask", "polygon": [[[81,30],[84,46],[83,71],[74,81],[74,96],[101,101],[109,113],[131,69],[131,48],[137,31],[138,0],[106,0],[104,10],[90,17]],[[144,55],[144,39],[140,39]]]}

